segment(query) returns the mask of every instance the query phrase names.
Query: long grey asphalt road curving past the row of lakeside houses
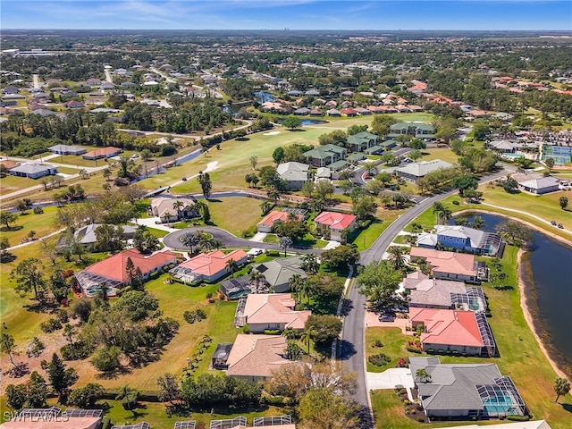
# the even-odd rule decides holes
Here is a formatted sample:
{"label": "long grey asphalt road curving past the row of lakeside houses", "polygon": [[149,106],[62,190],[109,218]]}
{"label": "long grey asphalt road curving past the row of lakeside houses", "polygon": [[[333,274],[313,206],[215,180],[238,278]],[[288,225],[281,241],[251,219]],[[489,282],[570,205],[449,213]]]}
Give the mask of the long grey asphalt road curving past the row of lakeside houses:
{"label": "long grey asphalt road curving past the row of lakeside houses", "polygon": [[[503,176],[505,172],[497,172],[481,179],[481,182],[491,181]],[[385,250],[391,245],[397,234],[419,214],[433,206],[433,203],[442,198],[449,197],[457,192],[457,189],[425,198],[416,206],[393,221],[391,225],[374,241],[371,248],[361,252],[361,265],[368,265],[379,261]],[[369,404],[369,392],[366,383],[366,360],[365,360],[365,336],[366,336],[366,297],[359,293],[357,283],[349,290],[349,311],[346,313],[341,332],[341,360],[350,371],[357,373],[357,391],[355,400],[364,407],[362,413],[362,427],[374,428]]]}

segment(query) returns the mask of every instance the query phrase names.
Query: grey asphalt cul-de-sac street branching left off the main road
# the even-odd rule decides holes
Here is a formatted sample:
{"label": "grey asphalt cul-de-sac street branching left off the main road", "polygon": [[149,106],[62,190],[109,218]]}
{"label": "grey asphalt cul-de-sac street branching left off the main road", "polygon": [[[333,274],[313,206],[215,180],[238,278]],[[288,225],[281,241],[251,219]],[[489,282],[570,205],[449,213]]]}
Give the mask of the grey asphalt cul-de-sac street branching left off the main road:
{"label": "grey asphalt cul-de-sac street branching left off the main road", "polygon": [[[221,240],[225,247],[228,248],[267,248],[270,250],[283,250],[277,244],[271,243],[261,243],[258,241],[251,241],[240,239],[239,237],[232,235],[230,232],[222,230],[220,228],[197,226],[192,228],[185,228],[184,230],[171,232],[166,235],[163,239],[164,245],[169,248],[176,248],[178,250],[190,250],[189,247],[183,246],[181,243],[181,236],[190,231],[204,231],[209,234],[213,234],[214,239]],[[289,252],[299,252],[299,253],[322,253],[324,249],[320,248],[288,248]]]}

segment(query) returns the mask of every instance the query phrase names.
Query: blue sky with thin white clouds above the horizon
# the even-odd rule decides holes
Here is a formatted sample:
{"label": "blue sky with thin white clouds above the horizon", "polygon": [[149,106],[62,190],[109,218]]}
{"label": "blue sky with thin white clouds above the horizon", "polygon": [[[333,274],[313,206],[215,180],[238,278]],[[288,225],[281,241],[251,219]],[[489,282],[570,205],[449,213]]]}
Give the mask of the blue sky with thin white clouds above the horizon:
{"label": "blue sky with thin white clouds above the horizon", "polygon": [[560,0],[2,0],[3,29],[564,29]]}

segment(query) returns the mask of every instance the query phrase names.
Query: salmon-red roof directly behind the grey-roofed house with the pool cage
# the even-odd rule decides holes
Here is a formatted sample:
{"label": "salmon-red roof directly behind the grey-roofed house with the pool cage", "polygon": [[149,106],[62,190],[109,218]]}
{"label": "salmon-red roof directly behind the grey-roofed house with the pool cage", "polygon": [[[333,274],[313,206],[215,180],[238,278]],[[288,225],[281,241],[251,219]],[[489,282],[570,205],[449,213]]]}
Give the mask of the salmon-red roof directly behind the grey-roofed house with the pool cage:
{"label": "salmon-red roof directly behind the grey-roofed house with the pool cage", "polygon": [[481,332],[472,311],[409,308],[412,323],[423,323],[422,343],[484,347]]}

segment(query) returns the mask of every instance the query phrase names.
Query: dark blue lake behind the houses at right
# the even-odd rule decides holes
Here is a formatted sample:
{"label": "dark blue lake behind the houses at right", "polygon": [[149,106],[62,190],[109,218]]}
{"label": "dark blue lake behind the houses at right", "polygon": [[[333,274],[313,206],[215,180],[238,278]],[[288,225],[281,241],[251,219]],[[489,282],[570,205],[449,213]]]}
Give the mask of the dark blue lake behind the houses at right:
{"label": "dark blue lake behind the houses at right", "polygon": [[[475,214],[484,220],[484,230],[494,231],[504,219],[494,214]],[[467,216],[469,222],[475,215]],[[454,223],[451,222],[451,223]],[[531,313],[540,320],[539,335],[548,340],[554,361],[572,367],[572,248],[534,231],[533,251],[523,258]],[[515,285],[516,287],[517,285]],[[546,332],[547,335],[543,335]]]}

